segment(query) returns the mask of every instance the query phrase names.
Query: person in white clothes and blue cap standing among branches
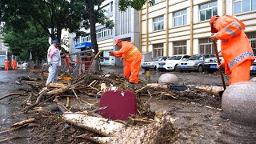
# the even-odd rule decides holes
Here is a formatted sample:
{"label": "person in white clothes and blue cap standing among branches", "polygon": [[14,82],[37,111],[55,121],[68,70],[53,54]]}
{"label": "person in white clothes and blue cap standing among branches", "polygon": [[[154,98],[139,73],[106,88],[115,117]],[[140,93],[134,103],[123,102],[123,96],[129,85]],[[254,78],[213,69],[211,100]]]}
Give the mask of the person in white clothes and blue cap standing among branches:
{"label": "person in white clothes and blue cap standing among branches", "polygon": [[60,46],[60,43],[58,42],[58,39],[54,39],[53,44],[50,45],[50,47],[47,50],[47,61],[49,67],[49,74],[46,81],[46,85],[48,85],[50,82],[56,83],[57,82],[57,76],[58,76],[58,66],[61,66],[61,54],[58,47]]}

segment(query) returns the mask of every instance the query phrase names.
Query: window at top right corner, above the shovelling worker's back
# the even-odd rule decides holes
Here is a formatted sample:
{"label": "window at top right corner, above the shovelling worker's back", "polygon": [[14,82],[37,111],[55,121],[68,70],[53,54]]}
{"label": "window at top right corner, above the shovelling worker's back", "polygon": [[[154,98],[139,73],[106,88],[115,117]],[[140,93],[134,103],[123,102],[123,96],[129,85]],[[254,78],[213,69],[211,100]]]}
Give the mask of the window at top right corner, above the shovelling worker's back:
{"label": "window at top right corner, above the shovelling worker's back", "polygon": [[234,0],[234,14],[256,10],[255,0]]}

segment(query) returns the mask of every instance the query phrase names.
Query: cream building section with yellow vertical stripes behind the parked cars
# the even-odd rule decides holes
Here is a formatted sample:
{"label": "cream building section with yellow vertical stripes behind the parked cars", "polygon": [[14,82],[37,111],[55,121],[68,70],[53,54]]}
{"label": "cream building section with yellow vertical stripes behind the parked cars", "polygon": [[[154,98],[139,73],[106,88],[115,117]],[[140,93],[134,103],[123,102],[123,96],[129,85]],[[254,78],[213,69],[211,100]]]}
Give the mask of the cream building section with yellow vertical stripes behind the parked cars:
{"label": "cream building section with yellow vertical stripes behind the parked cars", "polygon": [[[234,15],[246,24],[253,48],[256,38],[254,0],[155,0],[141,10],[141,50],[152,57],[174,54],[214,54],[210,18]],[[220,43],[218,43],[220,50]]]}

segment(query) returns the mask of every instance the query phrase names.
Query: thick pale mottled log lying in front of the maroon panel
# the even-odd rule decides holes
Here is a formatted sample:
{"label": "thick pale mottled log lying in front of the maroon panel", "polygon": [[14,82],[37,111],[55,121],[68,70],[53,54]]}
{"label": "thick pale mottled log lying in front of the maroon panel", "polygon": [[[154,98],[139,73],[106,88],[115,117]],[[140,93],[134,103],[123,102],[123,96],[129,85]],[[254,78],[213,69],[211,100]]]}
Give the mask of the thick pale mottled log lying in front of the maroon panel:
{"label": "thick pale mottled log lying in front of the maroon panel", "polygon": [[126,127],[119,122],[84,114],[62,114],[62,119],[74,126],[79,126],[94,133],[102,134],[103,136],[114,136]]}

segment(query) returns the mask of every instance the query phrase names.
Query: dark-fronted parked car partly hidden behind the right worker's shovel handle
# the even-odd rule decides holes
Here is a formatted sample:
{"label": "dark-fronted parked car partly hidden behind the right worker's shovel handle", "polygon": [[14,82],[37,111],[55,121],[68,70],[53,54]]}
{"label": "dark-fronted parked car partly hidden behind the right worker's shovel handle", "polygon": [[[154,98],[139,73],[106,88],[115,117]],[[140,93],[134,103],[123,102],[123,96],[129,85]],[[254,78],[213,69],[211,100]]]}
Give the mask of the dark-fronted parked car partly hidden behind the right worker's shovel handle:
{"label": "dark-fronted parked car partly hidden behind the right worker's shovel handle", "polygon": [[[219,59],[222,62],[224,58],[222,58],[222,55],[219,55]],[[206,70],[207,73],[212,74],[214,71],[218,70],[218,61],[216,56],[211,58],[206,58],[205,63],[202,65],[203,70]],[[224,68],[223,68],[224,70]]]}

